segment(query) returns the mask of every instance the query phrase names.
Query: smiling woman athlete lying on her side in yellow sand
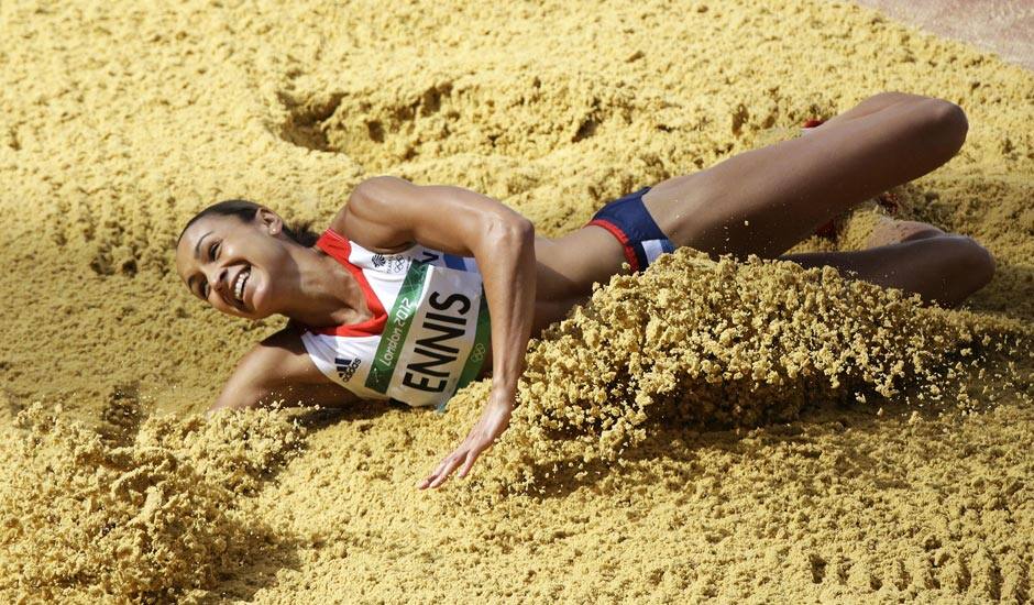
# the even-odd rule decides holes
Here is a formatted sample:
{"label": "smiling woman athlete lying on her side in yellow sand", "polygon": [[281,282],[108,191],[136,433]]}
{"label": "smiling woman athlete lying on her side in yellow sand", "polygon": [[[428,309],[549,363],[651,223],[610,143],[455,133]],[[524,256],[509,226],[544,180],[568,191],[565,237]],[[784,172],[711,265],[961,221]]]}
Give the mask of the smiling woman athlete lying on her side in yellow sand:
{"label": "smiling woman athlete lying on her side in yellow sand", "polygon": [[858,202],[947,162],[967,129],[954,103],[876,95],[805,136],[612,201],[556,240],[476,191],[389,176],[355,187],[312,248],[265,207],[217,204],[184,229],[179,275],[227,315],[290,321],[241,360],[212,409],[358,399],[442,409],[491,374],[481,419],[419,484],[438,487],[458,468],[465,476],[508,426],[530,336],[625,263],[642,271],[683,245],[757,254],[955,306],[991,279],[994,261],[972,239],[930,224],[883,218],[867,250],[784,253]]}

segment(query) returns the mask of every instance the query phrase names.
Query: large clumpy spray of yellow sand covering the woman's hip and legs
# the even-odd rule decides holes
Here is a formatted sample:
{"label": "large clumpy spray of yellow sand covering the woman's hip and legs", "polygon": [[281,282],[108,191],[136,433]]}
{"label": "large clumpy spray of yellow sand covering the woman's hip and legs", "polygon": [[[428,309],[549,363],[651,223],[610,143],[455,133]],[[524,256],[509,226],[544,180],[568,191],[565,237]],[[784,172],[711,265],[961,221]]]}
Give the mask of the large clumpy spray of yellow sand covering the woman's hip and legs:
{"label": "large clumpy spray of yellow sand covering the woman's hip and legs", "polygon": [[[692,428],[787,421],[805,405],[946,394],[972,408],[960,377],[985,350],[1028,351],[1025,326],[923,307],[917,295],[751,256],[690,249],[619,276],[532,342],[520,382],[510,482],[527,487],[547,461],[613,461],[660,422]],[[472,385],[454,400],[484,400]],[[952,389],[952,393],[947,393]],[[902,393],[906,391],[905,393]],[[452,404],[451,404],[452,405]],[[504,457],[501,457],[501,459]]]}

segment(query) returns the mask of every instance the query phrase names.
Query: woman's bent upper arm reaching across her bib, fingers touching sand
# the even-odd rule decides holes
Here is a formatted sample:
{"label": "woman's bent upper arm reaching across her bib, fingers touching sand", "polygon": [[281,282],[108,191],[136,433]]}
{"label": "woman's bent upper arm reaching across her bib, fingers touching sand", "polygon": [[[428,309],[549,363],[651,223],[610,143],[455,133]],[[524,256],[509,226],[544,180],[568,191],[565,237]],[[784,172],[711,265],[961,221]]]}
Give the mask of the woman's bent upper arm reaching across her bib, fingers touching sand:
{"label": "woman's bent upper arm reaching across her bib, fingers touching sand", "polygon": [[438,487],[506,430],[535,312],[535,228],[488,196],[450,185],[414,185],[378,176],[361,183],[334,219],[336,231],[364,248],[392,251],[413,242],[474,256],[492,318],[492,393],[477,425],[419,487]]}

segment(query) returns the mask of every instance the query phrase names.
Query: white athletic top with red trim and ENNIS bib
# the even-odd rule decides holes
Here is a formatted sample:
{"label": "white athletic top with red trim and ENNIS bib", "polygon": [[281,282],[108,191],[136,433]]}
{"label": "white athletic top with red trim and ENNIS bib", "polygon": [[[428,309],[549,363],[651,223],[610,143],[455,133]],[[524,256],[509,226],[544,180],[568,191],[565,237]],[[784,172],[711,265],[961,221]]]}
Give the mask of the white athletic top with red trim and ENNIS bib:
{"label": "white athletic top with red trim and ENNIS bib", "polygon": [[381,254],[329,229],[316,245],[355,277],[374,314],[350,326],[301,326],[316,366],[364,399],[444,410],[488,350],[488,302],[474,258],[419,244]]}

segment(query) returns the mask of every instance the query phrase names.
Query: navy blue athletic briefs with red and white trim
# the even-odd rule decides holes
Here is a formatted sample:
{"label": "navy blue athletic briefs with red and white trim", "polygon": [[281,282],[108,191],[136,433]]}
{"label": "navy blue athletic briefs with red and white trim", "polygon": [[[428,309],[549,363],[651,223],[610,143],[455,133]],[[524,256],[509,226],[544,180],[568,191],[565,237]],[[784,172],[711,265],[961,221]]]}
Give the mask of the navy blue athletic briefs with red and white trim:
{"label": "navy blue athletic briefs with red and white trim", "polygon": [[644,271],[662,253],[675,250],[642,205],[642,196],[649,190],[649,187],[644,187],[617,198],[604,206],[587,223],[602,227],[617,238],[625,248],[625,258],[632,271]]}

